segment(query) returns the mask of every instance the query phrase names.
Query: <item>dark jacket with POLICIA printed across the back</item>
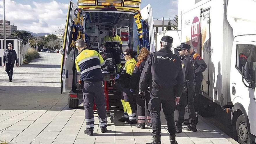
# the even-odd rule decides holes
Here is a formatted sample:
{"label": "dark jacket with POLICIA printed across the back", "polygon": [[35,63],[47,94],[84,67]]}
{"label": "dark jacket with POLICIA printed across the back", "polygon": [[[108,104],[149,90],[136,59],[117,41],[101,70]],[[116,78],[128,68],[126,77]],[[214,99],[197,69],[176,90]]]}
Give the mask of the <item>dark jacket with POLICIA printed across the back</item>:
{"label": "dark jacket with POLICIA printed across the back", "polygon": [[154,97],[174,100],[180,97],[184,87],[181,60],[168,48],[162,48],[147,57],[141,74],[139,91],[147,91]]}

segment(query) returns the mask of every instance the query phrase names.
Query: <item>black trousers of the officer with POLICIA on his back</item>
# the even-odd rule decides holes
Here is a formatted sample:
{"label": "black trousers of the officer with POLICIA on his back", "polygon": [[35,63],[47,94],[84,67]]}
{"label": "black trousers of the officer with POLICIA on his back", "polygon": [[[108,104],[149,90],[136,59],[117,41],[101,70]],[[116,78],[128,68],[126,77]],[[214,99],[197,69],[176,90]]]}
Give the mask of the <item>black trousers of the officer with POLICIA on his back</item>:
{"label": "black trousers of the officer with POLICIA on his back", "polygon": [[176,133],[175,122],[174,122],[174,111],[175,111],[175,101],[174,100],[162,100],[160,98],[153,98],[152,93],[150,93],[150,101],[148,103],[148,109],[151,114],[151,122],[153,134],[161,135],[161,120],[160,111],[161,104],[163,108],[163,113],[167,122],[167,130],[170,135]]}

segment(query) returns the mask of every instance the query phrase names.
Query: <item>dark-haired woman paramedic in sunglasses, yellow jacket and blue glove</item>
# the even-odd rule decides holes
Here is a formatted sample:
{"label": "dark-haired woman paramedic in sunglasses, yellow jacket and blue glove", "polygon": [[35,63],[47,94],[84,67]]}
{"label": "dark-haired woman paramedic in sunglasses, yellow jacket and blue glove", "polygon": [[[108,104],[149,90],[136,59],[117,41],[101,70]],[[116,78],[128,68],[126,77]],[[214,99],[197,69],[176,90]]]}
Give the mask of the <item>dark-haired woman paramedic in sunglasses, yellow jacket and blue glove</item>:
{"label": "dark-haired woman paramedic in sunglasses, yellow jacket and blue glove", "polygon": [[135,112],[135,105],[133,102],[133,90],[129,89],[129,83],[131,80],[131,75],[136,65],[135,55],[132,49],[126,49],[125,54],[125,65],[121,69],[119,82],[122,88],[122,98],[121,102],[124,107],[124,116],[118,121],[125,122],[125,124],[136,124],[136,112]]}

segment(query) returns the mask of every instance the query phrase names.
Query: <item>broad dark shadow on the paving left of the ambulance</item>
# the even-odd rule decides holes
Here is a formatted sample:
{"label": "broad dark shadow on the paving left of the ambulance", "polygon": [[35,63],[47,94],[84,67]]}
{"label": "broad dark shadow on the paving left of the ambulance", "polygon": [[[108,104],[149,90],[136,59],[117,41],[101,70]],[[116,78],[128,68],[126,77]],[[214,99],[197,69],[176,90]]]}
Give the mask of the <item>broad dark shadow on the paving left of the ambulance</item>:
{"label": "broad dark shadow on the paving left of the ambulance", "polygon": [[[67,94],[61,88],[40,86],[0,86],[0,110],[68,110]],[[65,109],[64,109],[65,108]]]}

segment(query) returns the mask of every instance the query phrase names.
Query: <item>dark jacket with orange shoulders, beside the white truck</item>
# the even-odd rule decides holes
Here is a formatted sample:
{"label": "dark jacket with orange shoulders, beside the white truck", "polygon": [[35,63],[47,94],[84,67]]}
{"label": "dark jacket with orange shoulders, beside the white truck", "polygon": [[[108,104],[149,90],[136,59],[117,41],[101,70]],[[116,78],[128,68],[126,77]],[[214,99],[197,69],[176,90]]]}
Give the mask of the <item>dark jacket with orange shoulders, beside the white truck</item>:
{"label": "dark jacket with orange shoulders, beside the white truck", "polygon": [[206,70],[207,64],[205,63],[205,61],[201,58],[201,56],[199,54],[195,53],[195,51],[191,54],[191,58],[195,62],[194,82],[202,81],[203,72]]}

